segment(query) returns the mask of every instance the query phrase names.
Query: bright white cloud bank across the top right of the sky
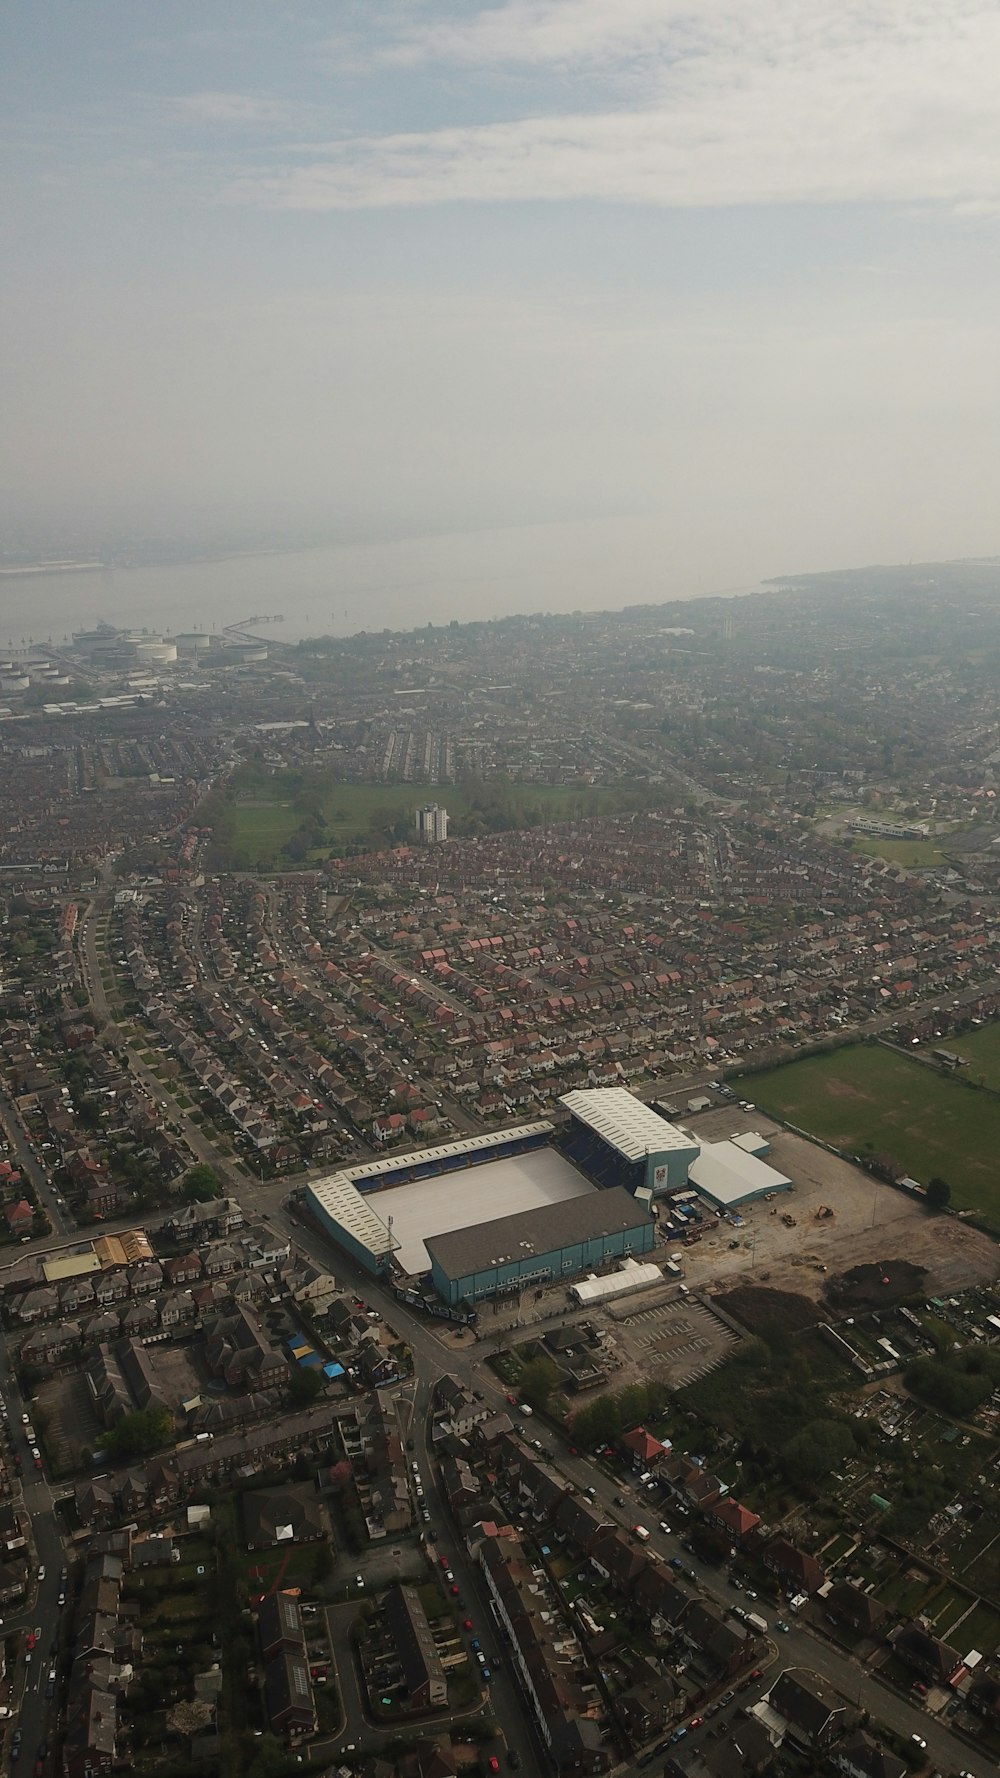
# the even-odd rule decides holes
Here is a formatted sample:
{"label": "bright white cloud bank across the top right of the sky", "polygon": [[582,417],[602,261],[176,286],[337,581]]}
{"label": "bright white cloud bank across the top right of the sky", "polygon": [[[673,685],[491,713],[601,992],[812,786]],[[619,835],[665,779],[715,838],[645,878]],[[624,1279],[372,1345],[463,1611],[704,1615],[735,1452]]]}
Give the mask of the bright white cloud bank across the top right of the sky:
{"label": "bright white cloud bank across the top right of the sky", "polygon": [[288,210],[1000,197],[996,0],[507,0],[407,20],[375,60],[502,71],[507,114],[518,66],[585,69],[605,103],[557,114],[536,78],[532,116],[320,144],[233,196]]}

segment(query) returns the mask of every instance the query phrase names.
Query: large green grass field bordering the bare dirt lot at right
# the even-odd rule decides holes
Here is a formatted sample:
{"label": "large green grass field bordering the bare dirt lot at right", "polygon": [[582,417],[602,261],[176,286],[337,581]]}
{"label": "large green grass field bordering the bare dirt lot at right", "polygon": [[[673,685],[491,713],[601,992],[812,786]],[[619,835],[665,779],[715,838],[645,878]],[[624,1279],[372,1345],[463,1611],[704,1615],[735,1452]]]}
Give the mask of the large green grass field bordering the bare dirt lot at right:
{"label": "large green grass field bordering the bare dirt lot at right", "polygon": [[747,1076],[746,1092],[847,1152],[891,1154],[922,1184],[940,1173],[959,1209],[1000,1220],[1000,1104],[875,1044]]}

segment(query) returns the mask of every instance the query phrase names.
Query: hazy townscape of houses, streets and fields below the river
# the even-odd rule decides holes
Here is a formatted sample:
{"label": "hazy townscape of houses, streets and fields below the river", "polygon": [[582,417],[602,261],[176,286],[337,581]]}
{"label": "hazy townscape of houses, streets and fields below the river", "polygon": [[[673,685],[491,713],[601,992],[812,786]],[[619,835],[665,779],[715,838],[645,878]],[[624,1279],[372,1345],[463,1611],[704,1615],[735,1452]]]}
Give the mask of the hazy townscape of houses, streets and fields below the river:
{"label": "hazy townscape of houses, streets and fields below the river", "polygon": [[998,590],[0,647],[5,1767],[996,1769]]}

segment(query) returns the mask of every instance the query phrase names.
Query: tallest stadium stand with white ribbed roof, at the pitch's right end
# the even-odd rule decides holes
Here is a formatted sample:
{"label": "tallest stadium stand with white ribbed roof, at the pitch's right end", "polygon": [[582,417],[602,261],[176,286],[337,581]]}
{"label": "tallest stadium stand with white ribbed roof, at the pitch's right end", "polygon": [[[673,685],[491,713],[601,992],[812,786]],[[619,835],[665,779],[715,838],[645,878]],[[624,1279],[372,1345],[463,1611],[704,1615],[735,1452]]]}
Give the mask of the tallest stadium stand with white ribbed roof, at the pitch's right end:
{"label": "tallest stadium stand with white ribbed roof, at the pitch's right end", "polygon": [[564,1093],[569,1113],[562,1152],[598,1186],[625,1186],[635,1195],[676,1191],[687,1184],[699,1143],[687,1131],[642,1104],[625,1086]]}

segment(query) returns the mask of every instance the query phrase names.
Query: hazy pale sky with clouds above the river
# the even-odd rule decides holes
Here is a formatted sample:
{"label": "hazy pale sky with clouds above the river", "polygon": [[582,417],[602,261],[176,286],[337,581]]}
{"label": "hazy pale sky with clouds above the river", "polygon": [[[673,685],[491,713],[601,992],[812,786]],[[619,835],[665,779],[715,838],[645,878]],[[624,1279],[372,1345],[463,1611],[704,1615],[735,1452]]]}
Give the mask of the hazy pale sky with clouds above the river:
{"label": "hazy pale sky with clouds above the river", "polygon": [[600,532],[614,603],[1000,549],[1000,0],[0,34],[0,546]]}

